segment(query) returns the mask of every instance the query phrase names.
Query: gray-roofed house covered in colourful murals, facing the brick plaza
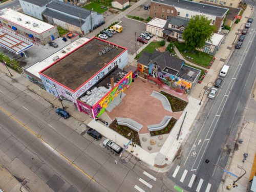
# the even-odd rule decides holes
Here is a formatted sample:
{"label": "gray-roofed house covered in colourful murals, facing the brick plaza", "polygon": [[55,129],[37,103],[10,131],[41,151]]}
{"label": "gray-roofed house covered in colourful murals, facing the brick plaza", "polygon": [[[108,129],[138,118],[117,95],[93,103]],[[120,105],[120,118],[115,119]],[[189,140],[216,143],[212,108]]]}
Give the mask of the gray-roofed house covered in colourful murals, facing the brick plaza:
{"label": "gray-roofed house covered in colourful murals, facing the brick plaza", "polygon": [[201,73],[201,70],[184,65],[184,60],[172,56],[169,51],[144,51],[137,60],[137,67],[148,79],[163,84],[163,88],[182,93],[190,93]]}

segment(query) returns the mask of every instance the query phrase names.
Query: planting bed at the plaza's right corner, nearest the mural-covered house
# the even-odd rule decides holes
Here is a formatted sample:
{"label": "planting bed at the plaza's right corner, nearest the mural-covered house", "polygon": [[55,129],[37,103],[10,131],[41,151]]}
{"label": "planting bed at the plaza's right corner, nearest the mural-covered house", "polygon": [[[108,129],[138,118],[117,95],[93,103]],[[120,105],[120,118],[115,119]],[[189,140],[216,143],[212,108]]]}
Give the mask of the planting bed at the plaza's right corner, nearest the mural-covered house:
{"label": "planting bed at the plaza's right corner, nearest the mural-covered house", "polygon": [[184,109],[187,105],[186,101],[184,101],[178,97],[175,97],[173,95],[170,95],[166,92],[163,92],[163,91],[160,91],[160,93],[163,94],[168,99],[173,112],[184,111]]}

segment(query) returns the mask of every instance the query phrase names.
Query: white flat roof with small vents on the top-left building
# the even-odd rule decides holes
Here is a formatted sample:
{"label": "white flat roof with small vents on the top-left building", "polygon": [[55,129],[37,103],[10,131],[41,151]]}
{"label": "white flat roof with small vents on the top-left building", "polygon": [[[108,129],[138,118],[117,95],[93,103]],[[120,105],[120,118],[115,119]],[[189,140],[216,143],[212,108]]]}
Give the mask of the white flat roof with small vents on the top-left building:
{"label": "white flat roof with small vents on the top-left building", "polygon": [[[27,28],[30,31],[33,31],[35,33],[42,33],[42,32],[45,32],[45,31],[55,27],[53,25],[42,22],[41,20],[38,20],[38,19],[33,18],[31,16],[25,15],[23,13],[19,13],[15,10],[10,9],[10,8],[8,8],[8,9],[6,8],[6,9],[1,10],[0,11],[0,17],[5,19],[5,20],[8,20],[9,22],[12,22],[16,25]],[[33,27],[34,23],[38,24],[38,26]]]}

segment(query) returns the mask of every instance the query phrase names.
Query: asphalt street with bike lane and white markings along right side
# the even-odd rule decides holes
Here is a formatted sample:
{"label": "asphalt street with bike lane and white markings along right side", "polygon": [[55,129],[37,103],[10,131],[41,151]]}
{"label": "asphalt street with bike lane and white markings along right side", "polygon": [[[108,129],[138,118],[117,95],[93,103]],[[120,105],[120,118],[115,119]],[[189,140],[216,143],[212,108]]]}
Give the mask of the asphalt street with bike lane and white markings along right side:
{"label": "asphalt street with bike lane and white markings along right side", "polygon": [[[217,97],[207,101],[199,119],[193,123],[193,132],[183,146],[181,157],[168,175],[183,189],[199,192],[217,191],[219,187],[222,168],[234,150],[238,124],[255,79],[255,28],[254,22],[242,48],[234,50]],[[210,160],[208,164],[206,159]]]}

